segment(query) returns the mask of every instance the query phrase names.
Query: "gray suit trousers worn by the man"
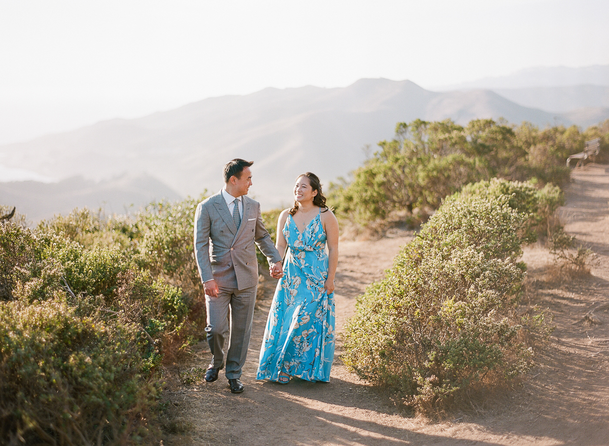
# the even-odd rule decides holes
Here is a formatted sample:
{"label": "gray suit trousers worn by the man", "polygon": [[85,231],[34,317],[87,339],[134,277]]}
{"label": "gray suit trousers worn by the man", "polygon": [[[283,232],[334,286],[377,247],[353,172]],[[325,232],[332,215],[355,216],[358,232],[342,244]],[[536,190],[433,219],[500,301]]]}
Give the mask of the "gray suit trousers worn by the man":
{"label": "gray suit trousers worn by the man", "polygon": [[[226,364],[229,380],[241,378],[247,348],[252,335],[252,321],[258,285],[239,290],[219,287],[217,297],[205,296],[207,342],[214,367]],[[229,310],[232,327],[229,327]],[[225,345],[229,344],[225,353]]]}

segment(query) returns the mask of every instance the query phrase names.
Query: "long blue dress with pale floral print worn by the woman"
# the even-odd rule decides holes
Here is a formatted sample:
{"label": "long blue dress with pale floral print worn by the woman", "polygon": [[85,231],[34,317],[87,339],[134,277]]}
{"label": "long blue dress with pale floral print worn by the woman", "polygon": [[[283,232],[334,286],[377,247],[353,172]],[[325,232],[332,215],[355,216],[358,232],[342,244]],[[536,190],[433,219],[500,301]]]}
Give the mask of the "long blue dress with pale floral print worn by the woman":
{"label": "long blue dress with pale floral print worn by the woman", "polygon": [[320,214],[302,233],[288,215],[282,232],[289,254],[270,307],[256,379],[278,381],[283,371],[307,381],[329,381],[334,293],[324,288],[328,255]]}

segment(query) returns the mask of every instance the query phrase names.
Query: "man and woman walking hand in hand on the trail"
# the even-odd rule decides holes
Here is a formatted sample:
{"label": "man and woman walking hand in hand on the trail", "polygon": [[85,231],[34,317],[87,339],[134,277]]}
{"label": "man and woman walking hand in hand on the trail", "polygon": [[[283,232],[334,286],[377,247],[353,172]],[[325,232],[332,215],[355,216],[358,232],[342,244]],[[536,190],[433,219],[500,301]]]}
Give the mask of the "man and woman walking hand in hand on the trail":
{"label": "man and woman walking hand in hand on the trail", "polygon": [[[269,260],[270,274],[280,280],[256,378],[280,384],[289,383],[290,377],[327,382],[334,358],[338,222],[326,206],[319,178],[306,172],[294,185],[294,207],[279,216],[273,246],[260,204],[247,197],[252,164],[241,159],[227,163],[224,188],[199,203],[195,212],[195,258],[205,288],[205,331],[213,355],[205,380],[216,381],[226,367],[230,391],[244,389],[239,378],[252,333],[258,245]],[[281,253],[286,253],[283,259]]]}

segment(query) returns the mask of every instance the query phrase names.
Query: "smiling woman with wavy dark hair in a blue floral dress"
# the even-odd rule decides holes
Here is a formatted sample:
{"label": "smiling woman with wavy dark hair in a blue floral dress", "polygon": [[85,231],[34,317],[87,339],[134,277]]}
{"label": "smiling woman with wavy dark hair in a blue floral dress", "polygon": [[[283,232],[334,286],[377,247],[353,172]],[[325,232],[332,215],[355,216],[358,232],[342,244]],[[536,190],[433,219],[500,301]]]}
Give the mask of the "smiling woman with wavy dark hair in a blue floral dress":
{"label": "smiling woman with wavy dark hair in a blue floral dress", "polygon": [[[256,378],[329,381],[334,359],[334,275],[339,224],[311,172],[294,185],[294,207],[277,221],[279,252],[289,252],[267,320]],[[325,252],[326,241],[328,254]]]}

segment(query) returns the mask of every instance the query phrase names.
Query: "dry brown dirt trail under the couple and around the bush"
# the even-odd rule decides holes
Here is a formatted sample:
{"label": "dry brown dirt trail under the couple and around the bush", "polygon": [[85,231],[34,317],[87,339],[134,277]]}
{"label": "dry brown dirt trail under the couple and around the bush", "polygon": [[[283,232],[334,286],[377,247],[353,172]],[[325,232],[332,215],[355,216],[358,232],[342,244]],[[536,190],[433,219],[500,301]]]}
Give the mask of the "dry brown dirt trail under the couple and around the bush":
{"label": "dry brown dirt trail under the couple and around the bush", "polygon": [[[222,373],[215,383],[167,392],[175,411],[193,426],[167,437],[164,445],[609,445],[609,166],[578,168],[572,178],[561,216],[567,232],[596,253],[597,265],[589,278],[550,279],[547,250],[525,250],[527,299],[549,308],[557,327],[535,352],[537,366],[509,394],[431,423],[400,416],[389,400],[343,366],[340,333],[356,296],[382,277],[412,238],[412,233],[396,232],[379,241],[340,243],[339,336],[330,383],[295,379],[282,386],[255,380],[267,297],[255,313],[242,377],[245,392],[231,394]],[[594,309],[600,324],[582,320]],[[200,348],[189,367],[209,363],[208,350]]]}

